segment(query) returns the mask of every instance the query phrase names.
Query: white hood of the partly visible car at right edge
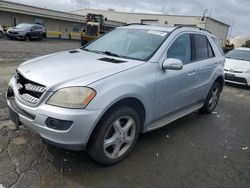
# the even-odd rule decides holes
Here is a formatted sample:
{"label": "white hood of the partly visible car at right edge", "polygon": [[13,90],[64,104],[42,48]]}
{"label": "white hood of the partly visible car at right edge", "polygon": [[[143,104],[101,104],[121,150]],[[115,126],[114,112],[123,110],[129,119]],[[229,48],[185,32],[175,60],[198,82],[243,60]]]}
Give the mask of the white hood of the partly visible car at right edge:
{"label": "white hood of the partly visible car at right edge", "polygon": [[226,58],[225,69],[245,72],[250,69],[250,62],[237,59]]}

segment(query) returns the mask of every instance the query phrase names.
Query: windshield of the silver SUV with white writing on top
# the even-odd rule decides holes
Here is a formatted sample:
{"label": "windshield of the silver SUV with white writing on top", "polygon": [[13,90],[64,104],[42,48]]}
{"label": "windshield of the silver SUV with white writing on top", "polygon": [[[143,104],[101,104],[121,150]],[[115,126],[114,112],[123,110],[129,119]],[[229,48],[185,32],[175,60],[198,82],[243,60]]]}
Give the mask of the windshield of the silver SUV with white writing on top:
{"label": "windshield of the silver SUV with white writing on top", "polygon": [[83,50],[123,58],[148,60],[166,37],[166,31],[117,28],[88,44]]}

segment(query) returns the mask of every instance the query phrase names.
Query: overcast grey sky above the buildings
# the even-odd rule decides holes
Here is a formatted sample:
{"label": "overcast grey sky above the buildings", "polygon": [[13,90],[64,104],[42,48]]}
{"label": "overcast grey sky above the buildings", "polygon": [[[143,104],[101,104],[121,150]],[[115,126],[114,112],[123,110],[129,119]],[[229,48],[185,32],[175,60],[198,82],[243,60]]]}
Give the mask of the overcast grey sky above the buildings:
{"label": "overcast grey sky above the buildings", "polygon": [[[211,16],[232,26],[229,35],[250,36],[250,0],[9,0],[59,11],[82,8],[115,9],[124,12],[148,12],[176,15]],[[211,10],[211,12],[210,12]],[[211,15],[210,15],[211,13]],[[231,31],[232,30],[232,31]]]}

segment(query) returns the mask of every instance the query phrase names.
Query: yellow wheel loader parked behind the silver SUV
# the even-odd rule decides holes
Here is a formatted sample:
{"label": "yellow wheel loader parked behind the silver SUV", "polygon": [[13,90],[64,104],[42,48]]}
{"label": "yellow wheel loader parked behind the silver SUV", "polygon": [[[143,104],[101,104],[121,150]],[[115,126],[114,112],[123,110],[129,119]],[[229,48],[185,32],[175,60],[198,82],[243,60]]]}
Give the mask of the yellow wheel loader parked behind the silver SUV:
{"label": "yellow wheel loader parked behind the silver SUV", "polygon": [[101,34],[121,25],[124,25],[124,23],[108,21],[107,18],[104,19],[101,14],[89,13],[86,16],[85,29],[81,32],[81,45],[83,46]]}

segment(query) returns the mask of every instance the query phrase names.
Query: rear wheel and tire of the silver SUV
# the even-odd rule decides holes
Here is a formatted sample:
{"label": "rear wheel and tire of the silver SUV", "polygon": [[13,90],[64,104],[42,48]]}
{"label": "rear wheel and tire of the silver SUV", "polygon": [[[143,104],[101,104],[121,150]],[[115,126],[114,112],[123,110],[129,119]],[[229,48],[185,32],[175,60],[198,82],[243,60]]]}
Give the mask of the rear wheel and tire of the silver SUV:
{"label": "rear wheel and tire of the silver SUV", "polygon": [[222,90],[222,86],[220,85],[219,82],[215,82],[212,85],[206,97],[204,106],[200,109],[201,113],[210,114],[214,111],[214,109],[216,108],[218,104],[221,90]]}

